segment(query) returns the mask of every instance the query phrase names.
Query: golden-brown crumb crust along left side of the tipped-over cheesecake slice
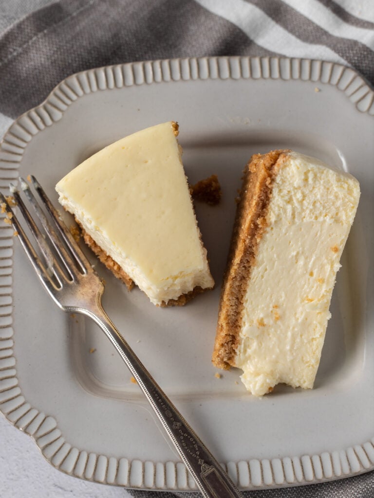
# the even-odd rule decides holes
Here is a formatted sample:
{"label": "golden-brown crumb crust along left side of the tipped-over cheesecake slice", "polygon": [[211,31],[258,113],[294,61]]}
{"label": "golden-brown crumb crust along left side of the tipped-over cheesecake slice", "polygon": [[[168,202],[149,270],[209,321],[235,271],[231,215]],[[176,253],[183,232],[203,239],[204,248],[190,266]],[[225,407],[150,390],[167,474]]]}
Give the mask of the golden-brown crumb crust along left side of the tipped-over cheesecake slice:
{"label": "golden-brown crumb crust along left side of the tipped-over cheesecake slice", "polygon": [[272,150],[267,154],[255,154],[244,169],[212,355],[214,366],[221,369],[235,366],[246,283],[256,264],[258,245],[266,229],[274,178],[289,152]]}

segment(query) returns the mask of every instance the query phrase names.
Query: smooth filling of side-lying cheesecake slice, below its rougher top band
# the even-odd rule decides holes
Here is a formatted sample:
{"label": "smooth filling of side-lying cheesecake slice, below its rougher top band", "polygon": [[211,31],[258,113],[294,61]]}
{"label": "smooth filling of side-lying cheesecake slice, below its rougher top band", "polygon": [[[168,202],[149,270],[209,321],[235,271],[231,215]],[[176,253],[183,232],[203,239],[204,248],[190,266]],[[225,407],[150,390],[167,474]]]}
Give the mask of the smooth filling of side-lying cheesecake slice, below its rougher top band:
{"label": "smooth filling of side-lying cheesecake slice, below its rougher top band", "polygon": [[346,237],[344,225],[326,221],[275,222],[264,234],[234,360],[252,394],[265,394],[279,382],[313,387]]}

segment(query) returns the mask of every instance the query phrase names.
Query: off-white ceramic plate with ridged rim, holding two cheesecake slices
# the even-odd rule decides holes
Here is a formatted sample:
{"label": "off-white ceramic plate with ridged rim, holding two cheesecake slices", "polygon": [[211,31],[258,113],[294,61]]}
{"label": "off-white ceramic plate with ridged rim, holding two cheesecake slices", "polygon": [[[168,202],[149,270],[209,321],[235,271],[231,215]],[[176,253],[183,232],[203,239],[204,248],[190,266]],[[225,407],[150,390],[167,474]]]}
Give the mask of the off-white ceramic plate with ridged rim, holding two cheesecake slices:
{"label": "off-white ceramic plate with ridged rim, holding two cheesecake slices", "polygon": [[[154,307],[102,267],[104,306],[136,353],[242,489],[320,482],[374,468],[373,91],[351,69],[277,58],[118,65],[73,75],[21,116],[1,144],[1,187],[54,185],[138,129],[180,124],[190,182],[216,173],[218,207],[197,205],[216,280],[184,308]],[[350,171],[362,198],[332,301],[313,390],[257,399],[210,363],[241,170],[252,153],[294,148]],[[83,317],[62,314],[12,231],[0,229],[0,405],[45,458],[100,483],[195,490],[121,359]],[[93,259],[95,262],[96,260]]]}

